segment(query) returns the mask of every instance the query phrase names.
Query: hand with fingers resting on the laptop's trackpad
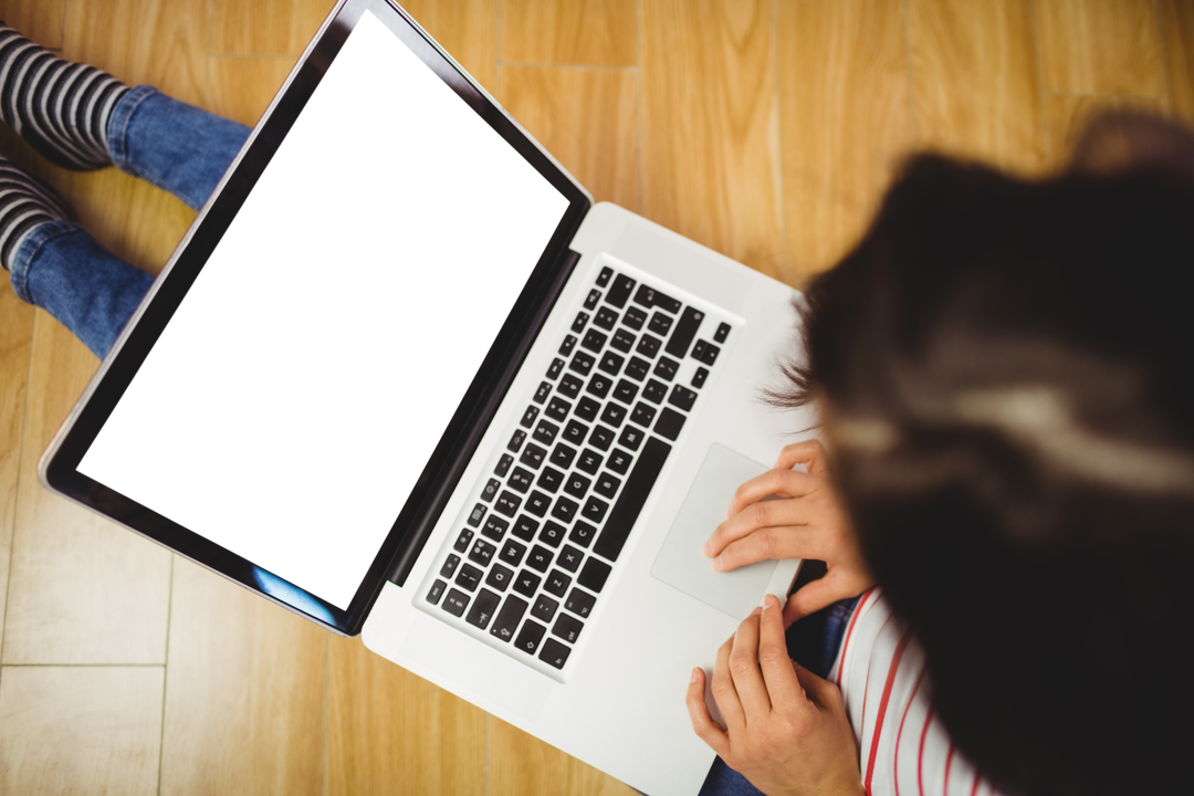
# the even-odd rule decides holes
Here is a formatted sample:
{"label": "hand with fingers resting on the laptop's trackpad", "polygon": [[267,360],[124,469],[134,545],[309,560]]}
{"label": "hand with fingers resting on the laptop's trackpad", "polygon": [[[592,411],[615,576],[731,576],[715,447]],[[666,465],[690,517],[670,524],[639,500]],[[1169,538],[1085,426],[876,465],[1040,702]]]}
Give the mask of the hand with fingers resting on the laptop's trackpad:
{"label": "hand with fingers resting on the laptop's trackpad", "polygon": [[[793,470],[798,463],[808,473]],[[784,500],[764,500],[773,495]],[[788,598],[786,625],[875,585],[830,483],[825,449],[816,439],[788,445],[775,469],[738,487],[726,517],[704,543],[704,555],[719,572],[769,559],[826,563],[824,578]]]}

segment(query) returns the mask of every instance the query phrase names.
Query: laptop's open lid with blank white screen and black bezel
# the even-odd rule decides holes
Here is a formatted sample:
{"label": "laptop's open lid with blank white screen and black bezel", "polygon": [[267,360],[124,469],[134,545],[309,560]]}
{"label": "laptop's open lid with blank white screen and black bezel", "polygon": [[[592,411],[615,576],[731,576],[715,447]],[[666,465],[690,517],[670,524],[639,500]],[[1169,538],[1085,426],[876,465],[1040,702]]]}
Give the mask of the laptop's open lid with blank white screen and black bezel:
{"label": "laptop's open lid with blank white screen and black bezel", "polygon": [[341,1],[43,483],[359,633],[567,279],[590,205],[401,10]]}

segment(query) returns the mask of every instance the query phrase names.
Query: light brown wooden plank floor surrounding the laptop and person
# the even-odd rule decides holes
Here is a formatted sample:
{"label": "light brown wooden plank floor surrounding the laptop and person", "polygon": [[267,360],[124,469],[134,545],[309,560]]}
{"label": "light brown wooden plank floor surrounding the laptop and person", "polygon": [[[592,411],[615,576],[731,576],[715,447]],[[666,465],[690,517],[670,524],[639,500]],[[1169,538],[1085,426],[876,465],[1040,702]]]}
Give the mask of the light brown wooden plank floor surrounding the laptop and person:
{"label": "light brown wooden plank floor surrounding the laptop and person", "polygon": [[[257,121],[330,0],[0,0],[129,84]],[[800,285],[903,154],[1040,173],[1090,112],[1194,121],[1194,0],[412,0],[597,199]],[[158,272],[193,218],[7,128],[100,242]],[[0,792],[629,789],[50,496],[38,456],[98,362],[0,286]],[[627,716],[634,721],[634,716]]]}

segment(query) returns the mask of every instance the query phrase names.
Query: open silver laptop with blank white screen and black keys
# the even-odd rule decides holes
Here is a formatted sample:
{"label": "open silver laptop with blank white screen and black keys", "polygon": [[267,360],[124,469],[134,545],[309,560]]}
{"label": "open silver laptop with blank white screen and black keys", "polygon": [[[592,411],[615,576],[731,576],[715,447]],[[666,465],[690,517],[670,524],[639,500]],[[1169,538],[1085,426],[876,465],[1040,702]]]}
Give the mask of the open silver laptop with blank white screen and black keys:
{"label": "open silver laptop with blank white screen and black keys", "polygon": [[799,562],[715,573],[798,294],[580,186],[401,8],[341,0],[42,482],[617,777]]}

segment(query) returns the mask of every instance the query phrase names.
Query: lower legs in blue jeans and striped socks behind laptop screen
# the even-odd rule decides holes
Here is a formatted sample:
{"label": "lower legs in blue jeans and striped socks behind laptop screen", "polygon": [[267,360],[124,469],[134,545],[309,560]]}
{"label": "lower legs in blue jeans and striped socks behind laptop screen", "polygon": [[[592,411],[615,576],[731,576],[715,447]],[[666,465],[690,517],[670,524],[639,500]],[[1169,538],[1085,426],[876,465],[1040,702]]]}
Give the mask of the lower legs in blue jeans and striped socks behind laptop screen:
{"label": "lower legs in blue jeans and striped socks behind laptop screen", "polygon": [[[116,166],[198,210],[248,128],[73,63],[0,21],[0,119],[50,162]],[[53,187],[0,158],[0,267],[19,298],[49,311],[103,359],[154,277],[70,220]]]}

